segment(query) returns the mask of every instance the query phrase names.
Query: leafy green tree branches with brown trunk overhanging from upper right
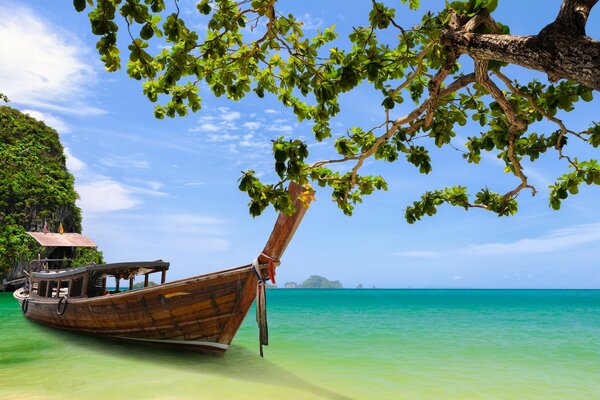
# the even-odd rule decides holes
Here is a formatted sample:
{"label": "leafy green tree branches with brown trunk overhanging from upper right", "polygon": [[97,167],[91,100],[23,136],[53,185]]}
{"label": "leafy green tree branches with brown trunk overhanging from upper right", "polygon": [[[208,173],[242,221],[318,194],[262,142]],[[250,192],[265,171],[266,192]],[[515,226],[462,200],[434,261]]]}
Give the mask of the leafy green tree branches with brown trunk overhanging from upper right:
{"label": "leafy green tree branches with brown trunk overhanging from upper right", "polygon": [[[364,24],[345,40],[338,38],[334,25],[307,37],[302,22],[286,14],[277,0],[202,0],[197,12],[206,16],[203,37],[182,18],[177,0],[87,4],[92,32],[100,37],[97,49],[109,71],[121,67],[117,34],[119,25],[125,26],[127,73],[143,81],[144,94],[157,103],[157,118],[200,110],[199,85],[204,83],[215,96],[232,100],[269,93],[299,121],[309,121],[315,139],[322,141],[334,133],[331,120],[340,112],[340,95],[361,85],[380,93],[380,123],[348,127],[334,141],[337,158],[309,163],[306,143],[274,140],[278,180],[262,182],[253,171],[240,178],[252,215],[269,205],[290,212],[284,188],[290,180],[330,187],[333,200],[351,214],[363,196],[387,189],[383,177],[360,174],[366,160],[404,159],[427,174],[432,169],[429,149],[450,146],[461,126],[469,120],[478,123],[481,131],[469,137],[465,160],[476,164],[482,153],[496,154],[515,176],[516,186],[506,193],[483,187],[470,194],[462,186],[427,192],[406,210],[412,223],[435,214],[442,204],[514,214],[521,191],[536,193],[522,160],[535,161],[549,151],[570,169],[552,186],[553,208],[582,183],[600,183],[595,160],[578,160],[566,152],[569,140],[597,147],[600,125],[577,132],[557,117],[580,101],[591,101],[593,89],[600,89],[600,45],[585,36],[596,2],[564,0],[555,21],[537,35],[517,37],[493,19],[497,0],[447,2],[439,12],[423,11],[413,27],[397,22],[395,8],[373,0]],[[419,8],[418,0],[401,3]],[[86,9],[85,0],[74,5],[77,11]],[[151,48],[158,46],[150,43],[161,44],[162,50],[153,53]],[[508,63],[544,71],[550,82],[517,82],[503,72]],[[400,116],[396,106],[404,102],[414,107]],[[543,120],[555,129],[531,129]],[[349,172],[332,168],[342,162],[351,163]]]}

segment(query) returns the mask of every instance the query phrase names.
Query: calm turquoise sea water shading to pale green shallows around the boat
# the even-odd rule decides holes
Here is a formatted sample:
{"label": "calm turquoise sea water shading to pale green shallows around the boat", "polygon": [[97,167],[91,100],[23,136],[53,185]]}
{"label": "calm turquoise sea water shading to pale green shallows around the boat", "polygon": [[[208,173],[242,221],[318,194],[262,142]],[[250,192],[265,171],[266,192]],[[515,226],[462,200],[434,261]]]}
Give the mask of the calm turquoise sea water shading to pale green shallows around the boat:
{"label": "calm turquoise sea water shading to pale green shallows around the boat", "polygon": [[600,291],[270,290],[224,357],[44,328],[0,293],[2,399],[600,399]]}

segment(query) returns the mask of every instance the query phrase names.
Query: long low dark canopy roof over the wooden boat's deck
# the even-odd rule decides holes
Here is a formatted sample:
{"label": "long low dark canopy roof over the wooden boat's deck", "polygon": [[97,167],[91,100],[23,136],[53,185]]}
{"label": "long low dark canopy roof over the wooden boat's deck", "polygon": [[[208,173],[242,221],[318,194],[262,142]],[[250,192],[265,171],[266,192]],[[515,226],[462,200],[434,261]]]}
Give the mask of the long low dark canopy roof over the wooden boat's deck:
{"label": "long low dark canopy roof over the wooden boat's deck", "polygon": [[102,274],[107,275],[137,275],[148,274],[158,271],[166,271],[168,269],[169,263],[163,260],[138,261],[100,265],[93,264],[72,269],[57,269],[44,272],[32,272],[31,277],[38,279],[62,279],[91,272],[100,272]]}

